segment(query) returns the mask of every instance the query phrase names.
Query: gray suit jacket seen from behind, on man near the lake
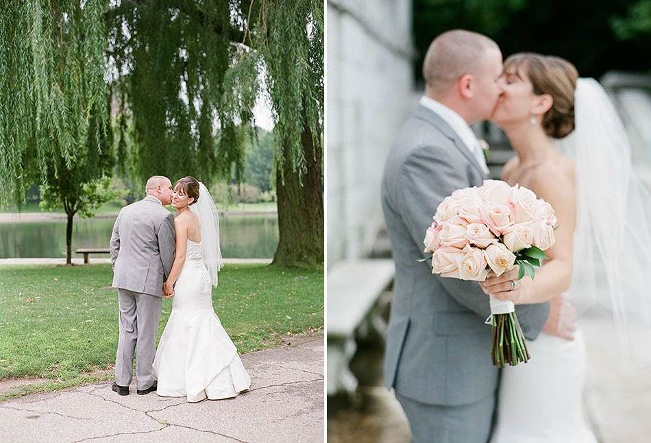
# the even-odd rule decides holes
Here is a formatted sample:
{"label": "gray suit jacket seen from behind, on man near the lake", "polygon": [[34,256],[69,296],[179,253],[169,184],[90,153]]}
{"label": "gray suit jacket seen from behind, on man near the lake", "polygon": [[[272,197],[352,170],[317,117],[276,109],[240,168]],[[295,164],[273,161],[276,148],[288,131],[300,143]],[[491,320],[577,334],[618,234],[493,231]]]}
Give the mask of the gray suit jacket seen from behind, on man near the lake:
{"label": "gray suit jacket seen from behind, on man near the lake", "polygon": [[147,195],[120,211],[111,235],[113,286],[162,296],[174,263],[174,217]]}

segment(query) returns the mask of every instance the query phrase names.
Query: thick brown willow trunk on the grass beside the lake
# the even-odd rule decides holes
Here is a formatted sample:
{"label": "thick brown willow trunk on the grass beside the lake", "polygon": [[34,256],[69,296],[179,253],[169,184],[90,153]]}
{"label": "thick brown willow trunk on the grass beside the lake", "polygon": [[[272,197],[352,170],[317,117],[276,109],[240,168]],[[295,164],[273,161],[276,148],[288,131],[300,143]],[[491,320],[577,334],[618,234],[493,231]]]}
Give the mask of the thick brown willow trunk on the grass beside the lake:
{"label": "thick brown willow trunk on the grass beside the lake", "polygon": [[273,264],[312,267],[323,264],[323,146],[312,143],[312,132],[304,125],[301,144],[307,160],[303,185],[291,170],[291,160],[284,154],[284,183],[276,171],[278,195],[278,230],[280,239]]}

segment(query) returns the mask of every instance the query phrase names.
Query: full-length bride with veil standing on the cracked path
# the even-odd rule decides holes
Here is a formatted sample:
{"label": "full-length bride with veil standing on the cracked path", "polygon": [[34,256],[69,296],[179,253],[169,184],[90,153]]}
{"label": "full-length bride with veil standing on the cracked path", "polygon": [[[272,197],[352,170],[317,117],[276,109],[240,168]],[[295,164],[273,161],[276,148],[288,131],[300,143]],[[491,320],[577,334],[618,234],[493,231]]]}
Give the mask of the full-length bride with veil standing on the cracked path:
{"label": "full-length bride with veil standing on the cracked path", "polygon": [[172,206],[176,257],[163,291],[174,299],[153,361],[156,394],[188,402],[234,397],[251,379],[212,308],[212,286],[223,266],[219,215],[208,189],[193,177],[178,180]]}

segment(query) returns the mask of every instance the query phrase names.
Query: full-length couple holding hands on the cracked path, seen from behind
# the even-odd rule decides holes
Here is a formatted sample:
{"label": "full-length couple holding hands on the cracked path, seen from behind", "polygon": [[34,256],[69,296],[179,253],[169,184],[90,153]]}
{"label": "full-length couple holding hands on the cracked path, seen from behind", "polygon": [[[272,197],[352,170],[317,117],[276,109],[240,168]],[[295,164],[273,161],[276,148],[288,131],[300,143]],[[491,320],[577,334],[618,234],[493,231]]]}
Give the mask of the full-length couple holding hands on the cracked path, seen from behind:
{"label": "full-length couple holding hands on the cracked path, seen from behind", "polygon": [[[128,395],[136,353],[137,394],[230,398],[251,380],[212,307],[223,266],[219,213],[203,183],[184,177],[172,188],[153,176],[147,196],[121,209],[110,240],[118,289],[119,342],[112,390]],[[174,217],[164,206],[176,209]],[[158,349],[162,298],[173,298]]]}

